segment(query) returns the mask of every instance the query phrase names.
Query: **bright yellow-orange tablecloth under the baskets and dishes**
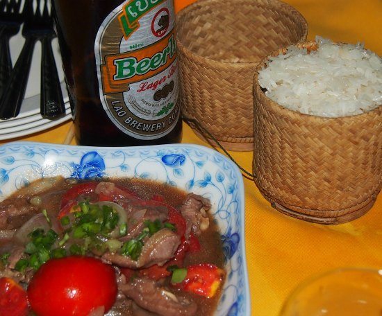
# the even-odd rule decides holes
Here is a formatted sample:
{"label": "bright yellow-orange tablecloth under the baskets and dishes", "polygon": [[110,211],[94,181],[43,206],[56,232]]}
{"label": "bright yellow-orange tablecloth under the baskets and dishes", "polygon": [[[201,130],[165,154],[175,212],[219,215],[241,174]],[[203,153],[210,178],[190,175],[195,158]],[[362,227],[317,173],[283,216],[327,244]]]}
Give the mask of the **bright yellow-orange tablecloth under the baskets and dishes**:
{"label": "bright yellow-orange tablecloth under the baskets and dishes", "polygon": [[[176,10],[193,1],[175,0]],[[229,4],[221,2],[222,6]],[[363,42],[382,55],[381,0],[286,2],[308,21],[308,39],[321,35],[340,42]],[[63,143],[71,124],[9,141]],[[182,142],[208,146],[185,124]],[[251,152],[231,154],[241,166],[251,170]],[[382,194],[362,218],[343,225],[322,226],[281,215],[260,195],[254,182],[244,179],[244,186],[251,315],[278,315],[290,291],[313,274],[343,266],[382,267]]]}

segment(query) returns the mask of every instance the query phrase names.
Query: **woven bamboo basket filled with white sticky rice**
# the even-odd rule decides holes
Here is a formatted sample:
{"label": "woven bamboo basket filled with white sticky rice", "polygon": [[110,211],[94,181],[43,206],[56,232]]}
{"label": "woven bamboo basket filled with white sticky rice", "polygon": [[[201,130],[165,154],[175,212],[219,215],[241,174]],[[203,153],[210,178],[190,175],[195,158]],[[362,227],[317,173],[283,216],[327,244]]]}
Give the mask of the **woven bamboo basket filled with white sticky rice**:
{"label": "woven bamboo basket filled with white sticky rice", "polygon": [[[315,42],[297,46],[317,49]],[[382,186],[382,105],[340,118],[292,111],[260,88],[265,60],[254,76],[253,168],[260,192],[278,211],[310,222],[340,224],[362,216]]]}

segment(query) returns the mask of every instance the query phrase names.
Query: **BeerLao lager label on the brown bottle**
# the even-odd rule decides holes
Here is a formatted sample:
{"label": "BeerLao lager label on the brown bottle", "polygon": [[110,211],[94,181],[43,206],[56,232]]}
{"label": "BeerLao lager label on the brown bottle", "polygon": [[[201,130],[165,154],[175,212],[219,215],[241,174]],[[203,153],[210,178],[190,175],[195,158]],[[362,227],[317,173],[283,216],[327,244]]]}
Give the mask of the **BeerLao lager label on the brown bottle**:
{"label": "BeerLao lager label on the brown bottle", "polygon": [[173,0],[130,0],[101,24],[94,53],[111,121],[136,139],[171,132],[180,115]]}

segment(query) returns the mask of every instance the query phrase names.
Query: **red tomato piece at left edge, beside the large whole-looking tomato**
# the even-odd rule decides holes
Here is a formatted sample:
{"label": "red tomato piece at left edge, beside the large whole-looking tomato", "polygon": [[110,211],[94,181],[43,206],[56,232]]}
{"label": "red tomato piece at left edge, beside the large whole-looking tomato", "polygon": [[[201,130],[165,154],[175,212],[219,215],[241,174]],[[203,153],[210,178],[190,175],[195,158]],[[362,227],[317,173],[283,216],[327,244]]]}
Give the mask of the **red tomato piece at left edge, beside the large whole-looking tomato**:
{"label": "red tomato piece at left edge, beside the large whole-looking tomato", "polygon": [[13,279],[0,278],[0,315],[25,316],[28,301],[25,290]]}

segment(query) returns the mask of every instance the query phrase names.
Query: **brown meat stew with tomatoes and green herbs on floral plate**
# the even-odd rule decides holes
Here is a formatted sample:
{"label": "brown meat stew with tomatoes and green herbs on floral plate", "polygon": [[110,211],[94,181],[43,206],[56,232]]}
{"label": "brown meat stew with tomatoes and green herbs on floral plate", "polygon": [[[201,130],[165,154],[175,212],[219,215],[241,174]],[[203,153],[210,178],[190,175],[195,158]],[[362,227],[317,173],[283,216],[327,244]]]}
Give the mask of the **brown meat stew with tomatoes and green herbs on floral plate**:
{"label": "brown meat stew with tomatoes and green herbs on floral plate", "polygon": [[146,180],[33,182],[0,203],[1,315],[212,315],[210,206]]}

